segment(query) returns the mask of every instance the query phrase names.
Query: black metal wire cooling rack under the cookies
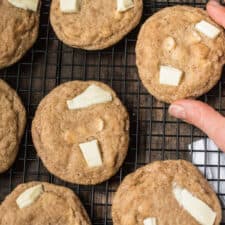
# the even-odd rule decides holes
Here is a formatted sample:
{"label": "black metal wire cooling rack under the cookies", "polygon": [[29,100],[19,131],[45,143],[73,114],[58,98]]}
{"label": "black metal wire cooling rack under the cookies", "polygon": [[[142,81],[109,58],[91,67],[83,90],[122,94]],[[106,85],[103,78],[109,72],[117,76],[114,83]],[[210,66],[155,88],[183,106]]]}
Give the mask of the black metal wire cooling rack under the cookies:
{"label": "black metal wire cooling rack under the cookies", "polygon": [[[141,24],[166,6],[188,4],[205,7],[205,3],[205,0],[145,0]],[[42,0],[39,38],[34,47],[19,63],[0,71],[0,78],[21,96],[28,114],[19,156],[11,169],[0,175],[0,201],[22,182],[48,181],[72,188],[84,203],[93,224],[111,224],[112,196],[125,175],[155,160],[180,158],[191,161],[187,145],[205,135],[193,126],[170,117],[168,105],[155,100],[141,84],[135,66],[135,43],[140,25],[120,43],[106,50],[72,49],[56,38],[49,22],[49,6],[49,0]],[[109,84],[130,114],[128,156],[117,175],[95,186],[68,184],[49,174],[37,157],[31,140],[31,121],[40,100],[58,84],[74,79],[100,80]],[[221,80],[201,100],[225,114],[225,81]],[[192,150],[192,154],[194,152]],[[220,170],[225,165],[220,163],[221,153],[215,151],[215,154],[219,164],[209,165],[205,152],[204,163],[198,166],[204,172],[208,167],[218,171],[218,178],[209,181],[217,183],[218,196],[223,199],[225,192],[220,189],[225,185],[225,179],[220,178]]]}

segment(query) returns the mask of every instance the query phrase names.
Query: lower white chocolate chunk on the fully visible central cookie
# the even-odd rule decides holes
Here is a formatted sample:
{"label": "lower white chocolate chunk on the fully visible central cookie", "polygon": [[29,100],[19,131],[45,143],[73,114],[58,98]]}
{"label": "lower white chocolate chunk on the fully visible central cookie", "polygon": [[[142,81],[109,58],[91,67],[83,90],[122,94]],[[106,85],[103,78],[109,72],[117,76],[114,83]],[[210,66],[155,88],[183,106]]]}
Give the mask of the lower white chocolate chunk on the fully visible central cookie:
{"label": "lower white chocolate chunk on the fully visible central cookie", "polygon": [[89,167],[102,165],[102,158],[97,140],[81,143],[79,146]]}

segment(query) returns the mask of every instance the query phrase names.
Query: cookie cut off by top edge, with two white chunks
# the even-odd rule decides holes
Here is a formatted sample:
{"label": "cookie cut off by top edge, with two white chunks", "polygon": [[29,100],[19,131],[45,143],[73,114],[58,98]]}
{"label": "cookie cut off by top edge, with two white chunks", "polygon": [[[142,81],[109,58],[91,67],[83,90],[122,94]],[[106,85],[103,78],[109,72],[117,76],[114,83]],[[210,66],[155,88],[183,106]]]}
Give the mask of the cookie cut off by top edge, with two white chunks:
{"label": "cookie cut off by top edge, with two white chunks", "polygon": [[140,21],[142,0],[134,7],[117,12],[116,0],[81,1],[77,13],[62,13],[59,0],[53,0],[50,21],[58,38],[65,44],[88,50],[107,48],[120,41]]}

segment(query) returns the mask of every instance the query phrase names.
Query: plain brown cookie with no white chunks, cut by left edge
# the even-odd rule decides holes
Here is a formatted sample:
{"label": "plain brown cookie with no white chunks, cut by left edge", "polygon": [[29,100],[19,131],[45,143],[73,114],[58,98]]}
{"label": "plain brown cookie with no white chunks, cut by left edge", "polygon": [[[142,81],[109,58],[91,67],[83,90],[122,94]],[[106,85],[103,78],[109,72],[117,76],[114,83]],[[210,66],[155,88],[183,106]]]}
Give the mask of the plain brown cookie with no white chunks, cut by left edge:
{"label": "plain brown cookie with no white chunks, cut by left edge", "polygon": [[0,173],[14,162],[25,124],[26,111],[17,93],[0,79]]}

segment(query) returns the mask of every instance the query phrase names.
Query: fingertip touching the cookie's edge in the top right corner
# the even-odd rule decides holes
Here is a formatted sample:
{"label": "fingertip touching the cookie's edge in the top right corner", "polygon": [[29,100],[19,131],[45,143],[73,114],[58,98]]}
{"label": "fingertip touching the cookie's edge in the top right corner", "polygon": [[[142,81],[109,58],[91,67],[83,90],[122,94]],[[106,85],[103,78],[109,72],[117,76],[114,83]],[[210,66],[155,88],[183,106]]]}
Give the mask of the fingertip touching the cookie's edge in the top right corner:
{"label": "fingertip touching the cookie's edge in the top right corner", "polygon": [[210,0],[206,6],[208,14],[221,26],[225,27],[225,7],[216,0]]}

